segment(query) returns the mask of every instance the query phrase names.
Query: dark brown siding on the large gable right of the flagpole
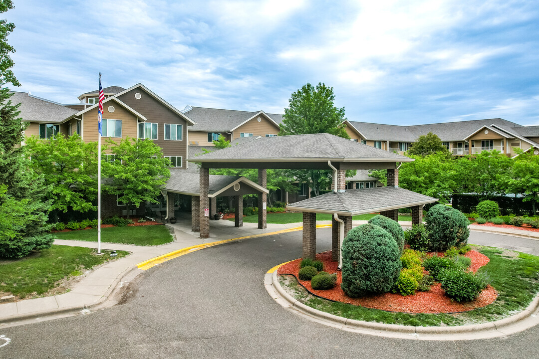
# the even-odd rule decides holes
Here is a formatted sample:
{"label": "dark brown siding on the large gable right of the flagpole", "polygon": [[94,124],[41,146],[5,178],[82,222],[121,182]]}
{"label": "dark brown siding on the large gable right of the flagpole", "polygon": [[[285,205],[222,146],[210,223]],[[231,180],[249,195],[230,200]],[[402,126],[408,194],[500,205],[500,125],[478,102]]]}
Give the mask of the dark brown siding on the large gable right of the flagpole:
{"label": "dark brown siding on the large gable right of the flagpole", "polygon": [[[136,93],[141,94],[141,98],[139,100],[135,98]],[[166,105],[158,101],[140,87],[137,87],[119,96],[118,98],[120,101],[126,103],[129,107],[148,118],[147,122],[157,123],[157,139],[154,140],[154,142],[163,149],[164,156],[182,156],[182,167],[186,168],[187,123],[185,119],[175,114],[175,112],[170,110]],[[165,123],[183,125],[183,135],[181,141],[164,139]],[[191,138],[189,139],[191,140]]]}

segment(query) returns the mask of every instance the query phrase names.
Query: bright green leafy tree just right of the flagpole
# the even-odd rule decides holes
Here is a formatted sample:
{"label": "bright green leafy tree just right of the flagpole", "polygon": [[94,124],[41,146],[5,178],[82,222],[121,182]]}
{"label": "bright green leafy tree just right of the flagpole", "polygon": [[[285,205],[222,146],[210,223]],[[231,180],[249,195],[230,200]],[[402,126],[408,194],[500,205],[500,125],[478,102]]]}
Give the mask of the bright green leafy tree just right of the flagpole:
{"label": "bright green leafy tree just right of the flagpole", "polygon": [[110,140],[114,161],[101,161],[103,175],[108,178],[105,192],[118,195],[126,205],[127,218],[133,206],[157,196],[170,178],[170,161],[163,157],[161,147],[150,139],[125,138],[119,144]]}

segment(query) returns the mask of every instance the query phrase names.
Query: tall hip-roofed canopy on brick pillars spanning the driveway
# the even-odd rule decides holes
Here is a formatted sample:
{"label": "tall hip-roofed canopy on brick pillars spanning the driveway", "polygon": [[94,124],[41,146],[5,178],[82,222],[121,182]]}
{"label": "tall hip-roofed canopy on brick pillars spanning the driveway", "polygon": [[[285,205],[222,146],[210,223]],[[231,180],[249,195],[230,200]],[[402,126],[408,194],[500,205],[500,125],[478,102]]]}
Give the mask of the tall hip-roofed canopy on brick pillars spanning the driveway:
{"label": "tall hip-roofed canopy on brick pillars spanning the driveway", "polygon": [[[266,188],[267,168],[333,170],[333,188],[336,188],[337,192],[345,192],[346,170],[385,168],[388,170],[388,186],[398,187],[397,164],[413,161],[409,157],[328,133],[262,137],[226,149],[201,154],[188,160],[201,163],[199,172],[201,238],[208,238],[210,235],[209,216],[205,215],[208,213],[205,209],[209,208],[210,168],[258,168],[258,184],[264,188]],[[378,192],[369,193],[376,196]],[[266,228],[266,193],[259,196],[258,209],[258,228],[263,229]],[[397,213],[395,209],[386,212],[388,216],[393,217]],[[315,221],[315,217],[309,218]],[[303,228],[312,228],[312,225],[306,226],[304,223]]]}

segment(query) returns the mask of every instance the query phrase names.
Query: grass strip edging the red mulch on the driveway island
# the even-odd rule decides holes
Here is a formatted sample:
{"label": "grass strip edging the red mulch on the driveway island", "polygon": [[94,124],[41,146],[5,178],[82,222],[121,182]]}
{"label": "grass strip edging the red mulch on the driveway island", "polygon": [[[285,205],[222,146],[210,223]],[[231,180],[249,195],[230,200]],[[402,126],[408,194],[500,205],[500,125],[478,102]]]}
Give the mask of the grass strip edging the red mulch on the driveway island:
{"label": "grass strip edging the red mulch on the driveway island", "polygon": [[[499,297],[486,307],[466,313],[390,313],[341,302],[331,302],[312,295],[305,295],[305,293],[296,298],[310,307],[344,318],[408,326],[440,326],[442,323],[443,325],[457,326],[489,322],[506,318],[526,308],[539,291],[539,257],[490,247],[478,246],[475,249],[490,258],[490,262],[480,268],[479,272],[487,274],[490,285],[497,290]],[[300,287],[297,282],[295,286]],[[294,291],[301,291],[301,289],[294,287]]]}

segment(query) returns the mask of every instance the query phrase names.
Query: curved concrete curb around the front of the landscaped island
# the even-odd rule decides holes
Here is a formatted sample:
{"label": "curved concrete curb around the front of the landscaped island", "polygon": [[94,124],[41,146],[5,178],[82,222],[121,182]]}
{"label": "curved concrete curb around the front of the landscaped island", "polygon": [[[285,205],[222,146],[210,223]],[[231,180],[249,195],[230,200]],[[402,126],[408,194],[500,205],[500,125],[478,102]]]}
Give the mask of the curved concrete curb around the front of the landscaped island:
{"label": "curved concrete curb around the front of the landscaped island", "polygon": [[[510,316],[508,318],[500,319],[494,322],[488,322],[488,323],[481,323],[481,324],[474,324],[474,325],[465,325],[465,326],[451,326],[451,327],[413,327],[413,326],[403,326],[403,325],[393,325],[393,324],[383,324],[383,323],[377,323],[377,322],[368,322],[368,321],[362,321],[362,320],[354,320],[354,319],[348,319],[343,318],[342,316],[333,315],[330,313],[322,312],[317,309],[314,309],[312,307],[309,307],[305,304],[302,304],[297,299],[293,298],[292,295],[288,294],[284,288],[281,287],[279,284],[279,280],[277,278],[277,270],[275,270],[272,273],[272,283],[271,285],[275,288],[275,291],[280,295],[281,300],[284,300],[287,307],[294,309],[295,311],[301,312],[302,314],[305,314],[306,316],[310,318],[316,319],[318,322],[322,322],[324,324],[333,326],[333,327],[340,327],[341,329],[347,330],[347,329],[367,329],[371,331],[375,331],[376,334],[380,335],[385,333],[400,333],[400,334],[406,334],[406,336],[403,336],[407,339],[417,339],[418,335],[429,335],[429,339],[432,340],[451,340],[451,337],[447,337],[448,334],[478,334],[479,336],[481,333],[489,333],[488,337],[493,336],[502,336],[507,335],[507,333],[503,332],[497,332],[497,330],[500,330],[501,328],[507,328],[512,327],[516,323],[519,323],[525,319],[530,318],[531,314],[537,311],[539,308],[539,294],[535,296],[535,298],[531,301],[530,305],[526,309],[524,309],[522,312],[515,314],[513,316]],[[282,304],[281,304],[282,305]],[[533,325],[536,325],[537,323],[533,323]],[[533,326],[531,325],[531,326]],[[513,328],[516,330],[509,330],[509,332],[520,332],[524,329],[527,329],[530,326],[523,326],[519,328]],[[492,332],[496,332],[497,335],[492,335]],[[368,333],[364,330],[362,333]],[[438,336],[438,338],[437,338]],[[478,337],[462,337],[461,339],[479,339]]]}

